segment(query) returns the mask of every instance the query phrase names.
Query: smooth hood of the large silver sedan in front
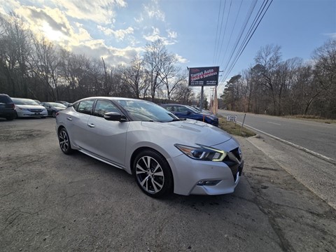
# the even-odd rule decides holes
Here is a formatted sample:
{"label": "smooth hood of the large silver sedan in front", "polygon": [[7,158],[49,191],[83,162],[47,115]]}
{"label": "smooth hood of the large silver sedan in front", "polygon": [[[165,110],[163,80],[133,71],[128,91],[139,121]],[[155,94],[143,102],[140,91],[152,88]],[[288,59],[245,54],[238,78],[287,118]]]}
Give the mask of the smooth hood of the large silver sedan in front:
{"label": "smooth hood of the large silver sedan in front", "polygon": [[181,120],[171,123],[142,122],[167,139],[175,139],[179,144],[204,144],[214,146],[232,139],[232,136],[218,127],[197,120]]}

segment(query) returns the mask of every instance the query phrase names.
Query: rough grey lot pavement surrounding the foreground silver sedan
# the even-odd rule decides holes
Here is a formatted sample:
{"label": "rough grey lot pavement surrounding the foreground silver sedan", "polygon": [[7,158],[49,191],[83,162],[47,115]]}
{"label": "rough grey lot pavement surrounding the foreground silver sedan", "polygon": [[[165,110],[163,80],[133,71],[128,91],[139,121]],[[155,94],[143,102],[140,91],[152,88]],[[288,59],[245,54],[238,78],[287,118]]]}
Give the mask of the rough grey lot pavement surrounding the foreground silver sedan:
{"label": "rough grey lot pavement surrounding the foreground silver sedan", "polygon": [[235,193],[155,200],[64,155],[55,119],[0,119],[0,251],[336,251],[335,209],[248,139]]}

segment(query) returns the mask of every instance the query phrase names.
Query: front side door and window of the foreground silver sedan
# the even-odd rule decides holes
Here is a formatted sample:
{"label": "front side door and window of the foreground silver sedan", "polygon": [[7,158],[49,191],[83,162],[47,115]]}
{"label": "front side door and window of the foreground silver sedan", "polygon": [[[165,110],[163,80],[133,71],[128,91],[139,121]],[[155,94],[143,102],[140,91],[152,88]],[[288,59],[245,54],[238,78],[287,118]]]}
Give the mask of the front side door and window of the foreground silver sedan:
{"label": "front side door and window of the foreground silver sedan", "polygon": [[92,116],[87,121],[88,151],[99,158],[112,162],[117,167],[125,165],[126,136],[129,122],[106,120],[104,113],[123,114],[109,100],[98,99]]}

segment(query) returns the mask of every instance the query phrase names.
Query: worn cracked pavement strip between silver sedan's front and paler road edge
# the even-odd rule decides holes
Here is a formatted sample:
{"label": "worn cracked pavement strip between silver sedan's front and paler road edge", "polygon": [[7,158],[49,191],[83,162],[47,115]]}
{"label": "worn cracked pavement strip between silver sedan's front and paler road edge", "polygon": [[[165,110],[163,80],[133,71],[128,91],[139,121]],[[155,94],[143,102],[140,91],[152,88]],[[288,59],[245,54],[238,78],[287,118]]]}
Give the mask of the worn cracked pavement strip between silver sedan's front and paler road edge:
{"label": "worn cracked pavement strip between silver sedan's front and paler road edge", "polygon": [[[265,139],[236,137],[244,175],[284,251],[336,251],[336,213],[279,165],[283,154]],[[282,147],[282,146],[281,146]],[[272,155],[270,155],[272,153]]]}

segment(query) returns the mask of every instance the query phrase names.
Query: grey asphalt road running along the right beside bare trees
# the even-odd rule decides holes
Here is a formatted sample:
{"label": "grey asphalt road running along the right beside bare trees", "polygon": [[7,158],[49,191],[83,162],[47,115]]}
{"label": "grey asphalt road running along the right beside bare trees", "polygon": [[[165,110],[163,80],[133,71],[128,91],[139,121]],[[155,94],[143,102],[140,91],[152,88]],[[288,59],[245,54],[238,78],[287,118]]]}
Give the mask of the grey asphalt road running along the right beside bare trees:
{"label": "grey asphalt road running along the right beside bare trees", "polygon": [[[234,111],[219,110],[218,114],[223,116],[237,115],[237,121],[240,123],[244,119],[244,113]],[[255,115],[253,113],[246,113],[244,124],[336,160],[335,124]]]}

